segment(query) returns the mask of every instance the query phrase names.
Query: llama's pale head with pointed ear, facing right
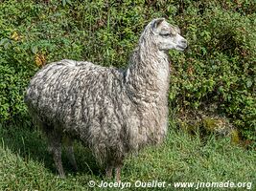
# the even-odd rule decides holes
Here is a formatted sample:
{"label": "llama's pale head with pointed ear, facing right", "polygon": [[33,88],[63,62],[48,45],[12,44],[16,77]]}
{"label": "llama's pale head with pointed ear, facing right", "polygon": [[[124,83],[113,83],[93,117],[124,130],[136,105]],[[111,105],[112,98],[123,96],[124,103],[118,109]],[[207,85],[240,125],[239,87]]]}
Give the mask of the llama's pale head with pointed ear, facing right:
{"label": "llama's pale head with pointed ear, facing right", "polygon": [[153,19],[146,31],[151,33],[151,42],[159,51],[171,49],[184,51],[187,48],[187,40],[180,35],[179,29],[169,24],[164,18]]}

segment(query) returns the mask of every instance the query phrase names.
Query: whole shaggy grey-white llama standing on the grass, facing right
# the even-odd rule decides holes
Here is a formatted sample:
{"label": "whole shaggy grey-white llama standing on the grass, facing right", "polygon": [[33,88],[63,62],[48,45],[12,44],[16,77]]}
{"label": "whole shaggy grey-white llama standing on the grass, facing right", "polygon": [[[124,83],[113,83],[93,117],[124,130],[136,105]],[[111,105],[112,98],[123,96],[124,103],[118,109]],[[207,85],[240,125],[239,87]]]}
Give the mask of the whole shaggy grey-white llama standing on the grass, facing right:
{"label": "whole shaggy grey-white llama standing on the grass, facing right", "polygon": [[123,160],[167,134],[170,66],[168,51],[183,51],[187,41],[164,18],[142,32],[126,70],[64,59],[39,70],[25,102],[49,141],[60,177],[61,140],[66,139],[77,170],[72,142],[90,148],[107,178],[120,180]]}

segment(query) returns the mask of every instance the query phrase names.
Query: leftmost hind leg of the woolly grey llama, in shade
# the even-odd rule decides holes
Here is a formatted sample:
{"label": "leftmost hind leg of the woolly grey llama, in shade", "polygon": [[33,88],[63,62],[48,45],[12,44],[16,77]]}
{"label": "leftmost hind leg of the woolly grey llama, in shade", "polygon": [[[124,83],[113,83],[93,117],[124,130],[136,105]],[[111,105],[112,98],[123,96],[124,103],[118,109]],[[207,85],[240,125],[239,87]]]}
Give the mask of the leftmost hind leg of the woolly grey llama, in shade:
{"label": "leftmost hind leg of the woolly grey llama, in shade", "polygon": [[62,161],[61,161],[61,136],[58,132],[47,132],[46,136],[49,141],[49,151],[53,154],[58,174],[61,178],[65,178]]}

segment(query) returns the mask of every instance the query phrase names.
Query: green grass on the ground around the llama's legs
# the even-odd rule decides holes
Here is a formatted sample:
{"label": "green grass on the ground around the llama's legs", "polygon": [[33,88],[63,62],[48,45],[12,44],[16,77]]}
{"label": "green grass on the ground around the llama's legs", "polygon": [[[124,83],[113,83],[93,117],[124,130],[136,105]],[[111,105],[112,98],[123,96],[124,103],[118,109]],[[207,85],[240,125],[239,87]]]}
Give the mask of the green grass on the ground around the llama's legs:
{"label": "green grass on the ground around the llama's legs", "polygon": [[[80,142],[75,145],[79,172],[74,173],[71,170],[63,152],[67,178],[62,180],[57,176],[53,159],[47,152],[45,138],[39,131],[25,127],[0,127],[0,138],[0,190],[91,190],[88,186],[89,180],[94,180],[97,184],[105,180],[104,170],[97,167],[90,152]],[[131,186],[136,180],[166,181],[172,185],[162,190],[170,190],[174,189],[175,182],[229,180],[235,183],[252,182],[253,190],[256,183],[255,157],[255,151],[232,145],[229,138],[211,136],[202,141],[197,136],[191,137],[173,128],[161,146],[148,147],[138,156],[129,156],[126,159],[122,181],[131,182]],[[124,190],[133,189],[134,186]],[[208,190],[219,189],[221,190]],[[236,189],[244,190],[246,187]],[[94,190],[101,188],[95,187]]]}

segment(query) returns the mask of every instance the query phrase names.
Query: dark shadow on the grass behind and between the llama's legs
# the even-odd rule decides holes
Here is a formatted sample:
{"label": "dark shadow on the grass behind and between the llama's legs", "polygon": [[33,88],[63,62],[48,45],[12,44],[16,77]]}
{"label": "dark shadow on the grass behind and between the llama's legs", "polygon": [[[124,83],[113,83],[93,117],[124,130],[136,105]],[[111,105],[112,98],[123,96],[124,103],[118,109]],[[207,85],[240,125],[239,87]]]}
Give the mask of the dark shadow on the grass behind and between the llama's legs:
{"label": "dark shadow on the grass behind and between the llama's legs", "polygon": [[[52,155],[48,152],[48,144],[42,132],[33,124],[9,124],[0,125],[0,138],[2,144],[8,147],[16,155],[21,156],[24,161],[30,159],[42,162],[48,170],[58,175]],[[75,141],[75,157],[78,163],[78,173],[102,177],[105,172],[99,168],[89,149],[82,146],[81,142]],[[74,175],[71,164],[62,148],[62,163],[66,175]]]}

